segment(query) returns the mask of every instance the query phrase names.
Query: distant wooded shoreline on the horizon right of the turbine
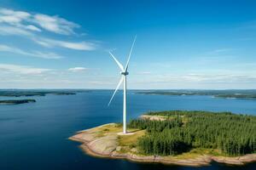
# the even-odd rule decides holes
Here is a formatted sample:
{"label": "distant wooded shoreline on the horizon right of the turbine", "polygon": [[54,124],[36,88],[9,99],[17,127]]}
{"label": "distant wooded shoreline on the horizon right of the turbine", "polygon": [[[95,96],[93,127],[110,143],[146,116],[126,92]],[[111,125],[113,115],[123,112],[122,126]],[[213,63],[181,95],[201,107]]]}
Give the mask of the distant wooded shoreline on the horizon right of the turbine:
{"label": "distant wooded shoreline on the horizon right of the turbine", "polygon": [[155,95],[211,95],[225,99],[256,99],[256,90],[145,90],[137,94]]}

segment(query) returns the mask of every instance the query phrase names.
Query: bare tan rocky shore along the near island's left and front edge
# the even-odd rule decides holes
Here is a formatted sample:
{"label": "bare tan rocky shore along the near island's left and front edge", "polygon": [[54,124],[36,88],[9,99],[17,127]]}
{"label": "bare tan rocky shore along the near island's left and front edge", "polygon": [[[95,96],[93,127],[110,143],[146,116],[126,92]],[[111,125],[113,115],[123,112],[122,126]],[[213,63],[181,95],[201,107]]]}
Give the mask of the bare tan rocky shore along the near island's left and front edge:
{"label": "bare tan rocky shore along the near island's left and front edge", "polygon": [[[139,162],[155,162],[189,167],[209,166],[212,161],[230,165],[244,165],[247,162],[256,161],[256,154],[246,156],[224,157],[210,155],[195,156],[142,156],[137,153],[136,148],[127,149],[126,146],[119,146],[120,127],[115,123],[109,123],[100,127],[79,131],[71,138],[82,143],[80,147],[90,156],[127,159]],[[137,132],[135,132],[137,135]],[[132,135],[131,135],[132,136]]]}

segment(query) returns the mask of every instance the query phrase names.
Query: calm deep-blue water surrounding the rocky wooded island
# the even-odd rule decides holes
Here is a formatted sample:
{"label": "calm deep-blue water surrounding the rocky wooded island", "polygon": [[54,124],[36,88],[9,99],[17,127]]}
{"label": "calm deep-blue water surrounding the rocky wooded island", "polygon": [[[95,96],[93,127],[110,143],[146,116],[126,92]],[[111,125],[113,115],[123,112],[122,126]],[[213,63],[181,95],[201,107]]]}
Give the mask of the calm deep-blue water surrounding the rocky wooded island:
{"label": "calm deep-blue water surrounding the rocky wooded island", "polygon": [[[210,167],[178,167],[90,157],[79,143],[68,140],[79,130],[122,121],[122,94],[107,107],[113,91],[91,91],[77,95],[21,97],[36,103],[0,105],[0,169],[256,169],[212,163]],[[0,97],[0,99],[14,99]],[[211,96],[128,95],[128,118],[145,111],[232,111],[256,115],[256,100],[216,99]]]}

